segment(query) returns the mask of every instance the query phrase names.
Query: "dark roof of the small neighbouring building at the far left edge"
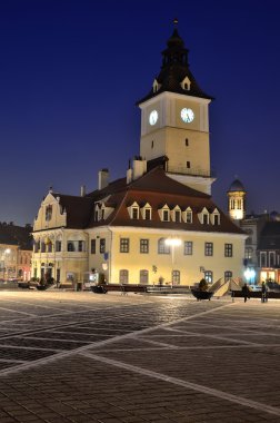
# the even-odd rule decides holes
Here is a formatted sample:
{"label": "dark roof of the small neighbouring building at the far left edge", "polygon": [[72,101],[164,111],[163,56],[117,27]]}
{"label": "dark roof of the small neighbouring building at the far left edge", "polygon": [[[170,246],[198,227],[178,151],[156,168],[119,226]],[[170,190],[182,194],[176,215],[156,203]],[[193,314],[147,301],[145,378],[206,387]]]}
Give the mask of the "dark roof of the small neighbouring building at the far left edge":
{"label": "dark roof of the small neighbouring building at the far left edge", "polygon": [[32,227],[0,223],[0,244],[18,245],[21,249],[32,249]]}

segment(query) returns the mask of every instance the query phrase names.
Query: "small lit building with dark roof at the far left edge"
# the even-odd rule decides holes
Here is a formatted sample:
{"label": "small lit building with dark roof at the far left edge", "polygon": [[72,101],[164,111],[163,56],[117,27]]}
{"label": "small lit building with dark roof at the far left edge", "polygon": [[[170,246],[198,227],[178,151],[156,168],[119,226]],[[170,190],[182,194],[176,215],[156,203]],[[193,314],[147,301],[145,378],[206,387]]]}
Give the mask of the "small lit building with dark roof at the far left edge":
{"label": "small lit building with dark roof at the far left edge", "polygon": [[32,227],[0,223],[0,278],[28,281],[31,276]]}

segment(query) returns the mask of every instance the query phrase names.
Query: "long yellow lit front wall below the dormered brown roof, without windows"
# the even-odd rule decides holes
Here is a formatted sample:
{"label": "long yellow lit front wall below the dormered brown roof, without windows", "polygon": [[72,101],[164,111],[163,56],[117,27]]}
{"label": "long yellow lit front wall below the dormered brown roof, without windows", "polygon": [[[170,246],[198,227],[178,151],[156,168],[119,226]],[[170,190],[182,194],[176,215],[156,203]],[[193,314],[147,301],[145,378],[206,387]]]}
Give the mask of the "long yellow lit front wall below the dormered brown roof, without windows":
{"label": "long yellow lit front wall below the dormered brown roof, without windows", "polygon": [[[99,253],[98,236],[106,239],[109,257]],[[120,253],[121,238],[129,239],[129,253]],[[160,238],[180,239],[181,245],[170,247],[169,254],[158,253]],[[193,285],[206,272],[212,272],[212,281],[223,278],[226,272],[231,272],[233,278],[241,277],[244,248],[244,236],[234,234],[171,232],[160,229],[140,229],[128,227],[111,227],[102,233],[90,230],[89,239],[96,239],[96,254],[90,254],[89,267],[104,273],[110,283],[120,283],[120,270],[128,270],[128,283],[140,283],[140,270],[148,270],[148,283],[158,284],[159,277],[164,283],[171,283],[172,270],[180,272],[181,285]],[[149,239],[149,254],[140,253],[140,239]],[[184,254],[184,242],[192,243],[192,254]],[[206,256],[206,243],[212,243],[213,255]],[[232,257],[224,256],[224,245],[232,244]],[[107,264],[108,269],[103,269]],[[157,269],[157,272],[154,272]]]}

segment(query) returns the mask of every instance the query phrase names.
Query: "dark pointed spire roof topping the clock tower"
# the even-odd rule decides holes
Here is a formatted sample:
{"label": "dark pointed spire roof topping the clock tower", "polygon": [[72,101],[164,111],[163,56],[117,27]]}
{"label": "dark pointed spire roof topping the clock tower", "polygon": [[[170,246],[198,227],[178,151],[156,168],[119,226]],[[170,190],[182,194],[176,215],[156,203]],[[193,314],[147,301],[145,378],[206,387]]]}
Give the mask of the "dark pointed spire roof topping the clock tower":
{"label": "dark pointed spire roof topping the clock tower", "polygon": [[[183,39],[179,36],[177,19],[174,19],[173,23],[173,32],[167,41],[167,48],[161,52],[162,66],[159,75],[156,77],[158,90],[152,88],[148,96],[139,100],[138,104],[141,104],[164,91],[212,99],[211,96],[202,91],[191,73],[188,61],[189,50],[184,47]],[[186,78],[190,81],[187,90],[182,87],[182,81]]]}

